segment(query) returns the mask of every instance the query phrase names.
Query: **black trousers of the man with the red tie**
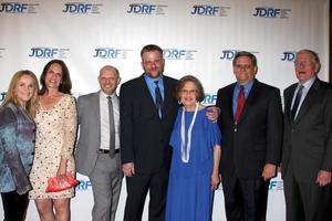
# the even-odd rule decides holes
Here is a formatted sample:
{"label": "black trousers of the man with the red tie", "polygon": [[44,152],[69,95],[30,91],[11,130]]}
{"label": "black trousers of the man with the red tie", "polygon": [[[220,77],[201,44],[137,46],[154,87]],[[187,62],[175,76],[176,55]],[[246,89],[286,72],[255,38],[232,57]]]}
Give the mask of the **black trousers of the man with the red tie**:
{"label": "black trousers of the man with the red tie", "polygon": [[227,221],[264,221],[269,181],[260,177],[242,179],[235,172],[222,176]]}

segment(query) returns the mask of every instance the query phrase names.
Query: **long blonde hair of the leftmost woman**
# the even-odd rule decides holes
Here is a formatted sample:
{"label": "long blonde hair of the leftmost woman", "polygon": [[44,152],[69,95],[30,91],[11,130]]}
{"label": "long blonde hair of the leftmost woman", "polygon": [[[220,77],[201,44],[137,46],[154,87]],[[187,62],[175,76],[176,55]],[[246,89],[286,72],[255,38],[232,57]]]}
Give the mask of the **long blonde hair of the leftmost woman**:
{"label": "long blonde hair of the leftmost woman", "polygon": [[18,97],[17,97],[15,90],[18,87],[19,81],[21,80],[21,77],[23,75],[31,76],[31,78],[33,81],[33,95],[32,95],[31,99],[29,102],[27,102],[25,109],[27,109],[27,113],[29,114],[29,116],[31,118],[34,118],[35,110],[37,110],[37,104],[38,104],[39,84],[38,84],[37,76],[33,74],[33,72],[31,72],[29,70],[19,71],[12,76],[9,87],[8,87],[8,91],[7,91],[6,98],[4,98],[3,103],[1,104],[1,108],[3,108],[9,103],[13,103],[15,106],[20,105]]}

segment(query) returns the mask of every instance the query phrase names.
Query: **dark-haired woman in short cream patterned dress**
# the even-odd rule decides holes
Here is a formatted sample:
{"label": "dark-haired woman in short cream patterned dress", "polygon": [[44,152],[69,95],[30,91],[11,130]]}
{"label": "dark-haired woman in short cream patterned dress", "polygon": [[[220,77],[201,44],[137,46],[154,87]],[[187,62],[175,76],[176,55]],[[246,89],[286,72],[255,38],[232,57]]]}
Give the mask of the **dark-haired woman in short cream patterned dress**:
{"label": "dark-haired woman in short cream patterned dress", "polygon": [[50,61],[40,77],[39,107],[35,116],[35,156],[30,173],[29,198],[43,221],[70,220],[70,199],[74,188],[46,193],[48,179],[74,176],[73,148],[76,136],[76,105],[71,96],[71,78],[65,63]]}

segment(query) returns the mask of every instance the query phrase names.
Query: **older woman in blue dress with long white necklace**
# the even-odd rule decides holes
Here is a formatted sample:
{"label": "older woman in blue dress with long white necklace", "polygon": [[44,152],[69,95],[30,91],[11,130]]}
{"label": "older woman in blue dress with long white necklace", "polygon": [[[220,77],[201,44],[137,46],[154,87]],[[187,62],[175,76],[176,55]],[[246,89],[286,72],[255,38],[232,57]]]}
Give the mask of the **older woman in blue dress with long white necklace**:
{"label": "older woman in blue dress with long white necklace", "polygon": [[179,80],[175,95],[183,107],[174,124],[173,158],[167,191],[167,221],[211,219],[214,190],[219,185],[221,135],[200,104],[204,88],[191,76]]}

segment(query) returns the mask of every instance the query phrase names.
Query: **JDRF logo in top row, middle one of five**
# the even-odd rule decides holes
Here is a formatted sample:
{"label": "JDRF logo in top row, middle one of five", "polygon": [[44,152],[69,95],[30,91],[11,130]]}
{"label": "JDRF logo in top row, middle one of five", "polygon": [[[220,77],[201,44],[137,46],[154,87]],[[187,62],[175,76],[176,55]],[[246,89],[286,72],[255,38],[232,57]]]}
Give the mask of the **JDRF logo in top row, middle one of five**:
{"label": "JDRF logo in top row, middle one of five", "polygon": [[168,6],[157,6],[148,3],[132,3],[127,13],[134,14],[165,14],[164,9]]}

